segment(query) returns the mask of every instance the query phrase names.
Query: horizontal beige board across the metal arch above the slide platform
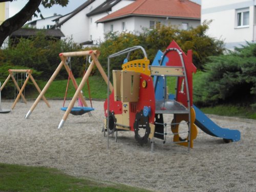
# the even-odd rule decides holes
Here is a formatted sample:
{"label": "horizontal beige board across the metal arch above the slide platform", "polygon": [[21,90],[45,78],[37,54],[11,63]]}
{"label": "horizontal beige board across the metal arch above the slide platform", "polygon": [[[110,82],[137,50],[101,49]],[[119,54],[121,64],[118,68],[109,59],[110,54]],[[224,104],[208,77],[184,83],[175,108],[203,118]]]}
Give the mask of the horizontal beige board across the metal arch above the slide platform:
{"label": "horizontal beige board across the metal arch above the slide platform", "polygon": [[150,66],[151,75],[184,76],[182,68]]}

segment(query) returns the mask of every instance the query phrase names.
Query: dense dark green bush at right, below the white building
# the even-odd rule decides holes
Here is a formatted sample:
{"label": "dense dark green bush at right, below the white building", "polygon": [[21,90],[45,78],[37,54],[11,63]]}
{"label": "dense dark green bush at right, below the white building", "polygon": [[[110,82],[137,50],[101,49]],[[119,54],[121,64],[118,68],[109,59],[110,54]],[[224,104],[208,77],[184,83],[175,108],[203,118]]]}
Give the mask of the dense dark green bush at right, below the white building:
{"label": "dense dark green bush at right, below the white building", "polygon": [[194,101],[204,105],[255,102],[256,44],[209,57],[201,79],[194,83]]}

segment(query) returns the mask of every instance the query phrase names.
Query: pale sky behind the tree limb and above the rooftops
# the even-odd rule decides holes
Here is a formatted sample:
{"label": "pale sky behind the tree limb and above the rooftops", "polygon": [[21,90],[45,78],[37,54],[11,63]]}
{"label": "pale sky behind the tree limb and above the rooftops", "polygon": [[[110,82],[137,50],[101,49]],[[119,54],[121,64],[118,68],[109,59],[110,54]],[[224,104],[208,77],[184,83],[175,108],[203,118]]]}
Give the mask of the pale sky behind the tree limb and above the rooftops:
{"label": "pale sky behind the tree limb and above the rooftops", "polygon": [[[87,0],[69,0],[69,4],[67,7],[61,7],[59,5],[54,5],[51,8],[44,8],[43,6],[40,5],[40,10],[42,13],[42,16],[44,17],[49,17],[53,16],[54,13],[65,15],[67,13],[70,13],[71,11],[75,10],[77,7],[82,5],[84,2]],[[194,1],[198,4],[201,4],[201,0],[191,0]],[[9,3],[9,17],[15,15],[24,5],[27,3],[27,0],[17,0]],[[34,19],[39,19],[40,17],[34,18]],[[32,20],[34,20],[32,19]]]}

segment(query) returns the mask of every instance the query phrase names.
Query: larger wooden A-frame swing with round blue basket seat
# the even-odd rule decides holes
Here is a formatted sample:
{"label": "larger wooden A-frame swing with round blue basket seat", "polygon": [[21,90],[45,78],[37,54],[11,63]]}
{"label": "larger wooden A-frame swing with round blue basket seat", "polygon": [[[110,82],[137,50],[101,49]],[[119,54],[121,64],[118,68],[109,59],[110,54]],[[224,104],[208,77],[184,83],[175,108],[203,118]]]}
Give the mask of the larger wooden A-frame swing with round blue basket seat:
{"label": "larger wooden A-frame swing with round blue basket seat", "polygon": [[[35,109],[37,103],[40,101],[40,99],[42,98],[42,96],[46,93],[47,89],[50,87],[50,84],[52,83],[52,81],[55,79],[55,77],[57,76],[57,74],[59,73],[59,71],[61,70],[62,67],[65,67],[67,73],[69,74],[69,78],[72,80],[73,86],[76,89],[76,92],[72,98],[72,100],[69,103],[69,106],[67,108],[62,108],[63,111],[65,111],[65,114],[63,115],[59,125],[58,125],[58,129],[60,129],[63,124],[65,123],[65,121],[67,120],[68,116],[70,113],[75,114],[75,115],[80,115],[83,113],[88,113],[89,116],[91,116],[91,112],[92,110],[94,110],[93,108],[90,108],[87,105],[86,100],[84,99],[81,90],[84,87],[84,84],[87,82],[94,66],[97,67],[97,69],[99,70],[101,76],[103,77],[103,79],[105,80],[105,82],[108,82],[108,76],[106,76],[103,68],[101,67],[99,61],[98,61],[98,57],[100,55],[100,52],[98,50],[91,50],[91,51],[77,51],[77,52],[66,52],[66,53],[60,53],[59,57],[61,59],[61,62],[59,63],[58,67],[56,68],[56,70],[54,71],[54,73],[52,74],[52,76],[50,77],[50,79],[48,80],[46,86],[44,87],[44,89],[42,89],[41,93],[38,95],[38,97],[36,98],[35,102],[33,103],[33,105],[31,106],[30,110],[28,111],[28,113],[25,116],[25,119],[28,119],[29,116],[31,115],[31,113],[33,112],[33,110]],[[74,56],[90,56],[91,57],[91,63],[86,71],[86,73],[84,73],[82,80],[80,82],[80,84],[78,85],[76,82],[76,79],[74,77],[74,75],[72,74],[72,71],[68,65],[68,63],[66,62],[67,59],[69,57],[74,57]],[[113,90],[113,86],[112,84],[110,84],[110,90]],[[82,103],[82,107],[78,106],[78,107],[74,107],[74,104],[76,102],[76,100],[79,99],[79,102]],[[80,113],[80,114],[78,114]]]}

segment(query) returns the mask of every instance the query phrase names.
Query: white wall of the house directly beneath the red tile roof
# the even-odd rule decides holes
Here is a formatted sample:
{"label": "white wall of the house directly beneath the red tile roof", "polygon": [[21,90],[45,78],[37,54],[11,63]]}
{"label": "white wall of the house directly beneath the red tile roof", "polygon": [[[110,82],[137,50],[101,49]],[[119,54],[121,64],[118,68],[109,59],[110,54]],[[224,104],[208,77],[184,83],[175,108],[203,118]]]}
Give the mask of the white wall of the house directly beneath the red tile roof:
{"label": "white wall of the house directly beneath the red tile roof", "polygon": [[154,21],[155,23],[161,22],[161,25],[165,26],[174,25],[180,29],[182,29],[182,23],[187,23],[188,27],[197,27],[200,25],[200,20],[133,16],[104,23],[104,33],[111,32],[111,25],[113,25],[114,32],[122,32],[123,22],[126,26],[126,32],[141,33],[144,28],[150,28],[150,21]]}

